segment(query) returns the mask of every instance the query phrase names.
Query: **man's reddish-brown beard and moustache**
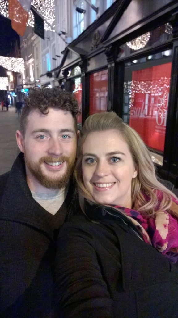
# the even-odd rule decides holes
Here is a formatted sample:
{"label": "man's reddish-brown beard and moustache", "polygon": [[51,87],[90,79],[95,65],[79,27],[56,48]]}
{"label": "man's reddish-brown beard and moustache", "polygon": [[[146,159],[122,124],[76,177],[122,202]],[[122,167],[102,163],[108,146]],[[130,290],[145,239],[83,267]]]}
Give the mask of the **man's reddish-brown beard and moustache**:
{"label": "man's reddish-brown beard and moustache", "polygon": [[[40,158],[38,163],[31,162],[31,160],[28,159],[28,156],[25,153],[24,157],[25,164],[29,169],[30,173],[35,177],[35,179],[39,183],[41,183],[42,186],[48,189],[62,189],[67,186],[70,176],[72,175],[74,170],[75,156],[71,155],[70,158],[68,156],[60,156],[58,158],[52,156],[45,156]],[[64,172],[62,176],[58,176],[57,178],[48,177],[42,172],[41,163],[43,162],[66,162],[66,172]],[[51,173],[55,173],[55,171],[51,171]],[[60,172],[56,171],[56,173]]]}

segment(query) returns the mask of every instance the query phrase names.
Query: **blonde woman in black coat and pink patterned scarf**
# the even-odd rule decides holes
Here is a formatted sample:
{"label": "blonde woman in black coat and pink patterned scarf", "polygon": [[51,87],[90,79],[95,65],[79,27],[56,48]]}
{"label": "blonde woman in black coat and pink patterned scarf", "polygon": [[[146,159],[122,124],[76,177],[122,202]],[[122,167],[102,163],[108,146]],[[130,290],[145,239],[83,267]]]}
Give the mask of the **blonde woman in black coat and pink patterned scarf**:
{"label": "blonde woman in black coat and pink patterned scarf", "polygon": [[177,318],[178,202],[139,135],[87,118],[75,169],[84,213],[63,225],[56,290],[65,318]]}

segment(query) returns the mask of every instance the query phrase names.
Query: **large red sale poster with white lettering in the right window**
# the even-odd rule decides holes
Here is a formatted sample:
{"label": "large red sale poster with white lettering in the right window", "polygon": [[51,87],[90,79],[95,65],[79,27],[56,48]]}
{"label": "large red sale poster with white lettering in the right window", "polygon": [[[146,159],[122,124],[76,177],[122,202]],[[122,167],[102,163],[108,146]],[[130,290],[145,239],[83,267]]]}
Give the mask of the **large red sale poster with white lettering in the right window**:
{"label": "large red sale poster with white lettering in the right window", "polygon": [[132,72],[129,125],[150,148],[164,150],[172,63]]}

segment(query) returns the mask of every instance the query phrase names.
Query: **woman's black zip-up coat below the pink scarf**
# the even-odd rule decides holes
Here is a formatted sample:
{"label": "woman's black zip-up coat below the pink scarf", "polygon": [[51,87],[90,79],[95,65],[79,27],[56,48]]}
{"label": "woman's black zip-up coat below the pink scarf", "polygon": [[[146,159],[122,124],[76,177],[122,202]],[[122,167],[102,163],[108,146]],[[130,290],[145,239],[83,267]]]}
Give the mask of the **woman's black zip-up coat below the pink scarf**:
{"label": "woman's black zip-up coat below the pink scarf", "polygon": [[56,295],[64,317],[177,318],[178,268],[115,209],[87,204],[86,215],[95,223],[83,214],[60,229]]}

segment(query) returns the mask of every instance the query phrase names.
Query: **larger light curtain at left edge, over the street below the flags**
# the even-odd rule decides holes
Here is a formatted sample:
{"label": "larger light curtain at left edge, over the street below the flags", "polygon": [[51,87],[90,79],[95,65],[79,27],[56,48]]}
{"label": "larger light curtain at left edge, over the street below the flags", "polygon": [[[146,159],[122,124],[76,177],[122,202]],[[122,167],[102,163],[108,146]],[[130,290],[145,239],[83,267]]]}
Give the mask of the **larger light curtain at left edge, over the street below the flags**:
{"label": "larger light curtain at left edge, over the street below the flags", "polygon": [[0,56],[0,65],[10,71],[24,73],[24,59]]}

